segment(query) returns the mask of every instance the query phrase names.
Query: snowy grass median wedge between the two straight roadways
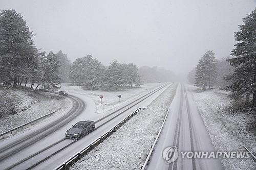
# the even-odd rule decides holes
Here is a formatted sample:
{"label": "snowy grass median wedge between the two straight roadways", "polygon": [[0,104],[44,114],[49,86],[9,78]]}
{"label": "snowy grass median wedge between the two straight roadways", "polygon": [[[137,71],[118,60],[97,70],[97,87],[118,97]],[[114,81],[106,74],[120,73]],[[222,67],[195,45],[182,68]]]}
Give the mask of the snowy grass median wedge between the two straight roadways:
{"label": "snowy grass median wedge between the two straight roadways", "polygon": [[177,84],[167,88],[144,111],[130,119],[70,169],[140,169],[167,109]]}

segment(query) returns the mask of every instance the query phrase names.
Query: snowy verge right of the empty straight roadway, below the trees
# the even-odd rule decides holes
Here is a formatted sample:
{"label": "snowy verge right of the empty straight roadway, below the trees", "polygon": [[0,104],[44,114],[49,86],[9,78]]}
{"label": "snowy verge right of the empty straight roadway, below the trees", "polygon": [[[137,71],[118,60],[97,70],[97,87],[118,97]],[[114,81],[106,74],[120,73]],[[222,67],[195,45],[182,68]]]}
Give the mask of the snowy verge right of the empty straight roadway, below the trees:
{"label": "snowy verge right of the empty straight roadway, below the trees", "polygon": [[[230,100],[223,90],[198,90],[187,85],[193,92],[205,127],[212,143],[218,151],[245,151],[246,147],[256,152],[256,128],[252,114],[246,112],[230,112]],[[225,169],[256,169],[251,159],[222,159]]]}

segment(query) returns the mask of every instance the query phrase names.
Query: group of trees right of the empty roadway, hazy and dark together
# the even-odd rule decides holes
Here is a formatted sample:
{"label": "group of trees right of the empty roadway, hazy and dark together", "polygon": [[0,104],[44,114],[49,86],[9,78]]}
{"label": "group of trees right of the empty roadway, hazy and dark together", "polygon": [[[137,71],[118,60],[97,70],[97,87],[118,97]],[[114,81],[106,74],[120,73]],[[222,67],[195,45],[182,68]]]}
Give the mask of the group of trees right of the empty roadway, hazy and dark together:
{"label": "group of trees right of the empty roadway, hazy and dark together", "polygon": [[188,80],[202,89],[219,86],[230,92],[233,101],[256,105],[256,8],[243,22],[234,33],[237,43],[231,56],[218,61],[212,51],[207,51],[189,72]]}

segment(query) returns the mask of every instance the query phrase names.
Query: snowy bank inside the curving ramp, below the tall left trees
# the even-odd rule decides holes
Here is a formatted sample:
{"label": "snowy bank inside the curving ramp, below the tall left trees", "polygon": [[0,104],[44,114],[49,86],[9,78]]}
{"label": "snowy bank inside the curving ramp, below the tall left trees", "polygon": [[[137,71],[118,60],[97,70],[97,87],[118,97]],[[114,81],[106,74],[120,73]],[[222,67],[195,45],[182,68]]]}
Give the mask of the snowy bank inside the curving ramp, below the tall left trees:
{"label": "snowy bank inside the curving ramp, below the tall left trees", "polygon": [[[58,111],[54,114],[57,115],[71,106],[71,102],[68,99],[56,94],[44,92],[35,94],[33,91],[24,89],[14,89],[11,93],[19,96],[22,99],[22,104],[17,108],[17,114],[8,114],[0,118],[0,133],[56,110]],[[48,118],[45,119],[47,120]],[[7,136],[5,135],[5,137]]]}

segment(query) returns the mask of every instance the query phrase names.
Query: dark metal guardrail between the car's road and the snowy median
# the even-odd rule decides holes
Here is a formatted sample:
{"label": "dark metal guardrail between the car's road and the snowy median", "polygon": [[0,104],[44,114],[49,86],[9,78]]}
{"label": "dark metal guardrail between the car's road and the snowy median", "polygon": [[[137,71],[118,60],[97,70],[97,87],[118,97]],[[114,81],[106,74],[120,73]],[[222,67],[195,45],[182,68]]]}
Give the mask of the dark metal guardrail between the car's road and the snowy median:
{"label": "dark metal guardrail between the car's road and the snowy median", "polygon": [[73,165],[77,160],[81,159],[82,156],[86,155],[87,153],[89,153],[90,151],[92,151],[92,149],[94,149],[99,143],[101,143],[102,141],[104,141],[107,137],[111,136],[117,129],[119,129],[123,124],[125,124],[127,122],[127,120],[129,120],[131,117],[133,117],[134,115],[136,115],[138,112],[140,112],[141,110],[144,110],[145,108],[139,108],[137,110],[135,110],[132,114],[130,114],[129,116],[125,117],[121,122],[119,122],[116,126],[114,126],[113,128],[111,128],[108,132],[104,133],[101,137],[97,138],[96,140],[94,140],[91,144],[87,145],[85,148],[83,148],[82,150],[80,150],[79,152],[77,152],[75,155],[73,155],[72,157],[70,157],[68,160],[66,160],[65,162],[63,162],[61,165],[57,166],[56,168],[54,168],[54,170],[67,170],[68,167],[70,167],[71,165]]}

